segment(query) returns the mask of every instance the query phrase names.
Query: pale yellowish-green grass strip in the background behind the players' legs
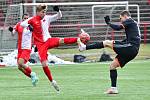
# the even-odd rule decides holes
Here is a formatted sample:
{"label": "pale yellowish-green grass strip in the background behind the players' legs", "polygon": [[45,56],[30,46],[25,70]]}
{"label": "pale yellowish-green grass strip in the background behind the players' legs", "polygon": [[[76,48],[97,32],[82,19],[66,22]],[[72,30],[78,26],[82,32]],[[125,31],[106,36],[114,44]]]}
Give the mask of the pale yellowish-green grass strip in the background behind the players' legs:
{"label": "pale yellowish-green grass strip in the background behind the players' legs", "polygon": [[[68,60],[68,61],[73,61],[73,55],[75,54],[85,55],[87,57],[87,60],[98,61],[103,51],[104,49],[93,49],[84,52],[79,52],[77,48],[49,50],[51,54],[57,55],[61,59]],[[105,48],[105,51],[107,54],[110,54],[112,58],[114,58],[116,55],[114,51],[109,48]],[[147,59],[147,58],[150,58],[150,44],[146,44],[146,45],[141,44],[139,54],[136,57],[136,59]]]}

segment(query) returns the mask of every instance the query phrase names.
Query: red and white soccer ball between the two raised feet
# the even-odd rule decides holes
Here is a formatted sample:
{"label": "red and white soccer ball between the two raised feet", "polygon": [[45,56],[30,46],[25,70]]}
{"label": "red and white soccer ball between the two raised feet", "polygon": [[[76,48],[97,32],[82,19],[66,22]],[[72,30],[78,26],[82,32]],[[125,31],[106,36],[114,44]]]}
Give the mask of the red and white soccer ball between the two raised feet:
{"label": "red and white soccer ball between the two raised feet", "polygon": [[83,29],[81,29],[81,34],[79,34],[79,38],[82,43],[86,44],[90,40],[90,35],[86,33]]}

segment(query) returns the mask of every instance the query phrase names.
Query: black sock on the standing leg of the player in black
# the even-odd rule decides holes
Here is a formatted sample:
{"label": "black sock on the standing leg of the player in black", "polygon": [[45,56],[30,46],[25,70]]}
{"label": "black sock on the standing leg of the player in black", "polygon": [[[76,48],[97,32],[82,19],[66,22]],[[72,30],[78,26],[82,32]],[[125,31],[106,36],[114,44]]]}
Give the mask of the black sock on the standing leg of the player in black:
{"label": "black sock on the standing leg of the player in black", "polygon": [[117,84],[117,70],[110,70],[111,87],[116,87]]}

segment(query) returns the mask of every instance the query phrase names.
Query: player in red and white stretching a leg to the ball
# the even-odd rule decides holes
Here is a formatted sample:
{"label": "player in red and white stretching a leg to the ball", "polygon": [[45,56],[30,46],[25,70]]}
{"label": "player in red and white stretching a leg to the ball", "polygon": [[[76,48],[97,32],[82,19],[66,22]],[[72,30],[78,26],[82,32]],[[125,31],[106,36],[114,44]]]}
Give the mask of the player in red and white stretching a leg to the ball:
{"label": "player in red and white stretching a leg to the ball", "polygon": [[[48,49],[58,47],[62,44],[73,44],[80,41],[80,38],[70,37],[70,38],[58,38],[51,37],[49,33],[49,25],[51,22],[56,21],[62,17],[62,13],[59,10],[58,6],[53,7],[54,11],[57,14],[46,15],[47,5],[38,5],[36,7],[36,16],[31,17],[30,19],[21,23],[23,27],[28,27],[31,25],[33,27],[33,38],[34,44],[36,45],[40,57],[40,61],[43,67],[43,70],[48,77],[49,81],[52,83],[52,86],[59,91],[59,87],[56,81],[53,79],[50,69],[47,63],[47,51]],[[86,34],[86,33],[84,33]],[[82,40],[81,40],[82,41]],[[82,41],[85,42],[85,41]]]}

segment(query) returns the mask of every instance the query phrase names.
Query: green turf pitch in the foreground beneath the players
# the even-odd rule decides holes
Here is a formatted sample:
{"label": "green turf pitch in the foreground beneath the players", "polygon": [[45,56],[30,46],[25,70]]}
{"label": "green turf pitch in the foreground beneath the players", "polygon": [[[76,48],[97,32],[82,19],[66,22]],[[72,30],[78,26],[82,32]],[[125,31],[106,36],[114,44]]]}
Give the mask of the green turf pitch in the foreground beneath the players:
{"label": "green turf pitch in the foreground beneath the players", "polygon": [[39,76],[37,87],[16,67],[0,68],[0,100],[149,100],[150,60],[134,62],[118,70],[118,95],[103,93],[110,86],[108,63],[51,66],[59,94],[39,66],[32,66]]}

